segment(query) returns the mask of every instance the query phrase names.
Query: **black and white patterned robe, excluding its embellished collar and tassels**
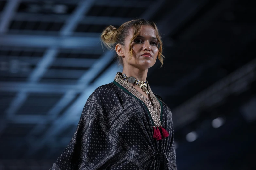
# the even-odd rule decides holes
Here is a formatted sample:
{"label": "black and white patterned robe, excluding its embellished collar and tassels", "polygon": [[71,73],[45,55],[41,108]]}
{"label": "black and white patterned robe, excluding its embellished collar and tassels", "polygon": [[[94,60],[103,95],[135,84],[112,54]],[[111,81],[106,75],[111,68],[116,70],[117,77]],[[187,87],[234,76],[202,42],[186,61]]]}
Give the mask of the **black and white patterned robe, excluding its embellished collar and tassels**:
{"label": "black and white patterned robe, excluding its embellished collar and tassels", "polygon": [[148,85],[161,103],[162,127],[169,132],[162,140],[153,139],[145,103],[116,78],[87,99],[75,134],[50,170],[177,170],[170,108]]}

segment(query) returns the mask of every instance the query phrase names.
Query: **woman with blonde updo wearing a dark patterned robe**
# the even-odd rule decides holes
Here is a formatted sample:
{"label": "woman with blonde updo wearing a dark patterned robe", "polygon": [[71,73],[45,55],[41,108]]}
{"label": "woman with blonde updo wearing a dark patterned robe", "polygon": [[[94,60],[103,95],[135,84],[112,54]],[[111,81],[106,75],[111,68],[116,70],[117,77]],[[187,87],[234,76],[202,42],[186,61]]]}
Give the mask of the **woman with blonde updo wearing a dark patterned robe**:
{"label": "woman with blonde updo wearing a dark patterned robe", "polygon": [[123,72],[98,87],[85,103],[75,134],[50,170],[176,170],[170,108],[146,80],[162,41],[153,22],[137,19],[101,34],[115,51]]}

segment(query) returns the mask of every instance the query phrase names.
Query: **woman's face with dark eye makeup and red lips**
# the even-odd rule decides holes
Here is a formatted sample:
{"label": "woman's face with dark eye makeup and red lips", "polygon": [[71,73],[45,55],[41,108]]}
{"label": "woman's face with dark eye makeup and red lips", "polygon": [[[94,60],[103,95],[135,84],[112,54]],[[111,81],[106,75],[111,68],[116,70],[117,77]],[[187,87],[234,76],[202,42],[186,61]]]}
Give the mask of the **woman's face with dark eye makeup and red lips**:
{"label": "woman's face with dark eye makeup and red lips", "polygon": [[[152,67],[156,63],[158,56],[158,41],[156,38],[155,29],[149,25],[143,25],[139,35],[132,42],[133,55],[130,59],[129,43],[132,38],[132,31],[130,29],[129,36],[125,39],[124,66],[127,64],[138,68],[140,70],[146,70]],[[130,60],[129,60],[130,59]]]}

